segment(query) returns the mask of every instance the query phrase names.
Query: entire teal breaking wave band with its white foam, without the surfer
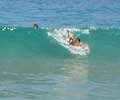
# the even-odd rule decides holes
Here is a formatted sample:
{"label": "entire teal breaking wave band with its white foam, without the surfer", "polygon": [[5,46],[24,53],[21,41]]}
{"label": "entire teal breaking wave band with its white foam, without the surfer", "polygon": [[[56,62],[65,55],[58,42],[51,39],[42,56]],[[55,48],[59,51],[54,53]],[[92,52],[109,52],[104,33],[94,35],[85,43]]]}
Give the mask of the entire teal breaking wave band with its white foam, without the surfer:
{"label": "entire teal breaking wave band with its white foam, without the surfer", "polygon": [[[60,35],[70,30],[74,37],[88,45],[84,49],[74,50],[66,47]],[[3,56],[61,56],[104,55],[118,56],[120,50],[120,29],[113,28],[60,28],[34,30],[32,28],[2,27],[0,30],[0,55]],[[77,53],[78,52],[78,53]]]}

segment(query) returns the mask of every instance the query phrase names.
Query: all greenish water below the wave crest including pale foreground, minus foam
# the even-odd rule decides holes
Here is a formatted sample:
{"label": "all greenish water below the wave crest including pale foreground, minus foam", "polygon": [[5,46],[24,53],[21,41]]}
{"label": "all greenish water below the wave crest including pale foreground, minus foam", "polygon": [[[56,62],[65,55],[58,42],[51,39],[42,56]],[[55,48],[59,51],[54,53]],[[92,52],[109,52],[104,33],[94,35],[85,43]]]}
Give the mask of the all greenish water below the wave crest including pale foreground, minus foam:
{"label": "all greenish water below the wave crest including pale foreground, minus foam", "polygon": [[0,31],[0,98],[119,100],[120,29],[89,29],[85,56],[48,36],[51,29]]}

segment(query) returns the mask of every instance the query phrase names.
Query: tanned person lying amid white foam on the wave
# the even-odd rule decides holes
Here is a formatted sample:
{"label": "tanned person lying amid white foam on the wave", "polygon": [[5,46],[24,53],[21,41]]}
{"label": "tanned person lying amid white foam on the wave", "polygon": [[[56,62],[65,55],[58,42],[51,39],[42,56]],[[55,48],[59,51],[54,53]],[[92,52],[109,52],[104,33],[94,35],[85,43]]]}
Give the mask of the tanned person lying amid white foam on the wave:
{"label": "tanned person lying amid white foam on the wave", "polygon": [[73,46],[82,46],[81,42],[80,42],[80,38],[74,38],[71,35],[69,30],[67,30],[67,33],[68,33],[68,39],[69,39],[68,42],[69,42],[69,44],[71,44]]}

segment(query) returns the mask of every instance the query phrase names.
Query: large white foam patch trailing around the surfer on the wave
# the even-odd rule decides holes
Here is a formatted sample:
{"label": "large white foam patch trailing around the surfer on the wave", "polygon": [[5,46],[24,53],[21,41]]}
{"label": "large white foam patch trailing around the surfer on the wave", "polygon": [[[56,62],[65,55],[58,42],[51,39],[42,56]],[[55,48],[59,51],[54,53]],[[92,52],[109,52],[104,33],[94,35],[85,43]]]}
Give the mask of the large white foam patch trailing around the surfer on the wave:
{"label": "large white foam patch trailing around the surfer on the wave", "polygon": [[[65,47],[72,54],[79,54],[79,55],[89,54],[90,49],[87,44],[85,44],[84,46],[81,46],[81,47],[69,45],[69,42],[67,40],[66,30],[78,31],[78,30],[68,29],[68,28],[58,29],[58,30],[55,29],[53,32],[48,32],[48,36],[52,36],[60,45]],[[86,34],[87,34],[87,32],[86,32]]]}

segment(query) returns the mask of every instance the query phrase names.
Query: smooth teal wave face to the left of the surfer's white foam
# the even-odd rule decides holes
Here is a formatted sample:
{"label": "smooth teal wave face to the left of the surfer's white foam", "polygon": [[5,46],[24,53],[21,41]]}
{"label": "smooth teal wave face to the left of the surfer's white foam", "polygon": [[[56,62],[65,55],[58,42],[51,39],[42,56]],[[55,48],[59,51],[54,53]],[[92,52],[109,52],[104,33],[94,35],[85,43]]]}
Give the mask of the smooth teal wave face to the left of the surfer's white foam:
{"label": "smooth teal wave face to the left of the surfer's white foam", "polygon": [[[69,53],[49,38],[46,29],[2,28],[0,55],[2,56],[60,56]],[[60,52],[60,50],[62,50]],[[64,56],[63,54],[63,56]]]}

